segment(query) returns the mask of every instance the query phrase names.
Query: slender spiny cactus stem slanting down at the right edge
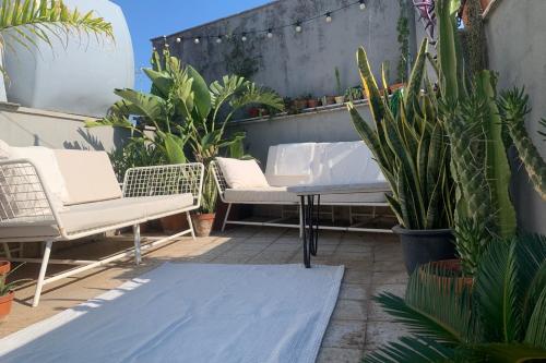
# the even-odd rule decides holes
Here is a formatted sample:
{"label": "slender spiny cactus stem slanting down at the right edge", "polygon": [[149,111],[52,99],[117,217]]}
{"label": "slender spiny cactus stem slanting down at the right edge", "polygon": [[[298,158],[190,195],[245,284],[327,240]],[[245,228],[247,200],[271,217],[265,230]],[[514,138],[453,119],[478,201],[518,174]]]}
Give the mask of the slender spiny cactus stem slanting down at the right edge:
{"label": "slender spiny cactus stem slanting down at the right edge", "polygon": [[541,197],[546,201],[546,162],[538,154],[525,129],[525,116],[529,108],[529,95],[523,89],[513,88],[501,94],[499,99],[501,110],[510,136],[518,149],[529,178]]}

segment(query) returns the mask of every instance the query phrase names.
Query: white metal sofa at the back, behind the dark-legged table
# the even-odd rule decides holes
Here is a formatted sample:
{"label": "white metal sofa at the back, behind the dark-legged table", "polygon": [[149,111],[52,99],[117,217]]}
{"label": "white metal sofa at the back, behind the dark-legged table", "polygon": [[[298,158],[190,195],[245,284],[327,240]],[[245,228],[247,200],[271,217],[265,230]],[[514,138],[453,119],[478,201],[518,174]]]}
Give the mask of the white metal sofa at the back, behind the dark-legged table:
{"label": "white metal sofa at the back, behind the dark-legged table", "polygon": [[[370,185],[368,193],[332,194],[321,197],[322,206],[334,221],[334,206],[346,206],[349,226],[320,226],[321,229],[346,231],[392,232],[390,228],[368,228],[363,221],[355,221],[353,207],[371,207],[371,219],[376,218],[376,207],[388,207],[384,194],[390,186],[368,147],[363,142],[281,144],[269,148],[265,166],[266,187],[233,189],[227,184],[218,162],[212,164],[219,196],[228,205],[223,229],[226,225],[254,225],[297,228],[301,223],[288,223],[281,216],[268,221],[232,220],[229,213],[234,204],[248,205],[297,205],[299,198],[286,191],[298,184],[360,184]],[[299,208],[301,221],[301,210]]]}

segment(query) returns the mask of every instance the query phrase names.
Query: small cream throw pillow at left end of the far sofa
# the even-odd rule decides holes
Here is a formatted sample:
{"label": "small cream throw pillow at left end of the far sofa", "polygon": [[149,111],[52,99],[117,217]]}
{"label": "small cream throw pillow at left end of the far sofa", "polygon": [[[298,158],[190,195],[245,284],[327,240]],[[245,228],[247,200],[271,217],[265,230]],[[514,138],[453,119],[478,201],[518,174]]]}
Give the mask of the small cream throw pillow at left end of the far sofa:
{"label": "small cream throw pillow at left end of the far sofa", "polygon": [[256,160],[216,158],[216,162],[232,189],[270,186]]}

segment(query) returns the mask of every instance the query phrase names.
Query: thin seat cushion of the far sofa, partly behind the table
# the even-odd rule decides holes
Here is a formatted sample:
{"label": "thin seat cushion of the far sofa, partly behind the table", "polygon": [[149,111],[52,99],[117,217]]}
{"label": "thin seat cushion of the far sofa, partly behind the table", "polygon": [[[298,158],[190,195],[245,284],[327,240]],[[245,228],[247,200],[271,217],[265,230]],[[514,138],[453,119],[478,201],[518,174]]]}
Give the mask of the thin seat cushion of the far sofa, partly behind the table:
{"label": "thin seat cushion of the far sofa, partly behind the table", "polygon": [[[370,193],[353,194],[327,194],[320,197],[321,204],[357,205],[363,203],[384,203],[384,193],[389,185],[375,185]],[[227,203],[299,203],[299,196],[288,193],[286,186],[252,187],[252,189],[226,189],[224,198]]]}

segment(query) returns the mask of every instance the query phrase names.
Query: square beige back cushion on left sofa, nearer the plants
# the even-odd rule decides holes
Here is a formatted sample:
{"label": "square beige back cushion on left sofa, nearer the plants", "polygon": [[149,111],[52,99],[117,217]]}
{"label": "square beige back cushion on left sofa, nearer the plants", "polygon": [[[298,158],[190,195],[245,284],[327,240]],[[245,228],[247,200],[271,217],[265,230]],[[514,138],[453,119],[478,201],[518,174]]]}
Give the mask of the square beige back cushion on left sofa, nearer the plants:
{"label": "square beige back cushion on left sofa, nearer the plants", "polygon": [[64,205],[121,197],[116,174],[105,152],[55,150],[64,178],[68,198]]}

